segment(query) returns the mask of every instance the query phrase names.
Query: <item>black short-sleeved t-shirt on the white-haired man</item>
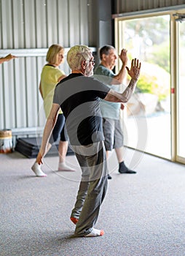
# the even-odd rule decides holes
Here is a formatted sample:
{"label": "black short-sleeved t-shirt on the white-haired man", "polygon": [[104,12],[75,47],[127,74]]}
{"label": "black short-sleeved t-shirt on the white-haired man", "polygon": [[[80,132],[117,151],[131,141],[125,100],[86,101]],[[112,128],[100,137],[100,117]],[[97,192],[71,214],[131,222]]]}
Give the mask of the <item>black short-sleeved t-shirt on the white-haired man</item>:
{"label": "black short-sleeved t-shirt on the white-haired man", "polygon": [[82,74],[72,73],[55,87],[53,103],[60,105],[66,118],[71,145],[89,145],[104,140],[100,99],[109,87]]}

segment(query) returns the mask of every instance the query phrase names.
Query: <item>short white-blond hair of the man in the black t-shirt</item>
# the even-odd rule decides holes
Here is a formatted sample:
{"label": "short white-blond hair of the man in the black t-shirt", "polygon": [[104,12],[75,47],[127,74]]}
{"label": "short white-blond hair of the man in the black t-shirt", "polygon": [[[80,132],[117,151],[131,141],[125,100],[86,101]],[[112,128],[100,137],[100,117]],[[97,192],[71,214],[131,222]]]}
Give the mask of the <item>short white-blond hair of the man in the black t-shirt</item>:
{"label": "short white-blond hair of the man in the black t-shirt", "polygon": [[81,69],[82,61],[88,61],[90,59],[90,53],[92,50],[87,45],[75,45],[68,50],[67,61],[68,66],[72,69]]}

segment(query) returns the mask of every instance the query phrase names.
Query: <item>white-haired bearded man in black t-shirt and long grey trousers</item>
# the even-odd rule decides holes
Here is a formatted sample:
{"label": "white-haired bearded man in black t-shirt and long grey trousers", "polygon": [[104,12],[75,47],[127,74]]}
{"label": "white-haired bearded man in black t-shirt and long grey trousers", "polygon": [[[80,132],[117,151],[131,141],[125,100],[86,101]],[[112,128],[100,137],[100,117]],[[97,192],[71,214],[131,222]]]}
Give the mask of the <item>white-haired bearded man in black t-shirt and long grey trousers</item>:
{"label": "white-haired bearded man in black t-shirt and long grey trousers", "polygon": [[36,161],[42,164],[61,108],[66,118],[70,145],[82,169],[82,180],[71,212],[71,221],[76,225],[75,235],[102,236],[104,231],[94,228],[106,195],[108,174],[99,101],[101,98],[110,102],[127,102],[135,89],[141,64],[133,59],[131,68],[126,67],[131,80],[125,91],[119,94],[95,78],[90,78],[93,75],[94,58],[87,46],[72,47],[68,51],[67,61],[72,72],[55,88],[52,110],[47,118]]}

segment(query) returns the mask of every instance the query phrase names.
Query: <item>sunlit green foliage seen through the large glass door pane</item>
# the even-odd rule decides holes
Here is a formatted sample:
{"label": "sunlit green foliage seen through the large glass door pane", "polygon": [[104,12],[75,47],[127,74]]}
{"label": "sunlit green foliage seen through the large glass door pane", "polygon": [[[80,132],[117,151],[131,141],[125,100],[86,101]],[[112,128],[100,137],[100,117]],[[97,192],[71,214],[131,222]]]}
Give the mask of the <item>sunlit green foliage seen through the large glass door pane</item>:
{"label": "sunlit green foliage seen through the large glass door pane", "polygon": [[136,92],[155,94],[159,101],[170,94],[169,15],[125,21],[125,48],[129,59],[140,51],[141,75]]}

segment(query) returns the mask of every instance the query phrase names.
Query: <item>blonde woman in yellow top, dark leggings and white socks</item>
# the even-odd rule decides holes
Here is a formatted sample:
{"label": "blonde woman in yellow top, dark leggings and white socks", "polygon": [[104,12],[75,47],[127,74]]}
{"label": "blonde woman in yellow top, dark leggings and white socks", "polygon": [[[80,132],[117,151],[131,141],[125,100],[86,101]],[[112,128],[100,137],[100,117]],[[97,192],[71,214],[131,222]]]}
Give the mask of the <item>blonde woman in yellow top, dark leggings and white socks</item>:
{"label": "blonde woman in yellow top, dark leggings and white socks", "polygon": [[[49,116],[50,110],[52,108],[52,98],[57,83],[66,77],[65,73],[61,71],[58,67],[64,62],[64,49],[60,45],[51,45],[47,51],[46,57],[47,64],[44,65],[41,74],[41,81],[39,86],[39,91],[44,99],[44,112],[46,117]],[[52,131],[52,136],[49,140],[47,147],[47,152],[50,150],[52,143],[55,143],[58,140],[60,135],[60,143],[58,146],[59,153],[59,164],[58,170],[74,170],[71,167],[66,165],[66,153],[68,150],[68,138],[65,138],[64,135],[64,123],[65,118],[62,111],[58,114],[58,120],[55,125],[55,128]],[[34,165],[31,167],[36,176],[45,177],[47,176],[41,169],[41,166],[34,162]]]}

